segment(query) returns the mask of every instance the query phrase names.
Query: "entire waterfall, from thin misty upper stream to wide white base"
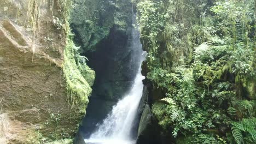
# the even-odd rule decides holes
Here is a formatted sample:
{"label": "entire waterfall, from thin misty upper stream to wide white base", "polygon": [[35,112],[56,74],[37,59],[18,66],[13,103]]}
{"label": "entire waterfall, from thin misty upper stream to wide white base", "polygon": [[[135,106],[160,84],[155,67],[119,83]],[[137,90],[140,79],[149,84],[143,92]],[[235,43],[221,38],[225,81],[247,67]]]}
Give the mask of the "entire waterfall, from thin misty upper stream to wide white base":
{"label": "entire waterfall, from thin misty upper stream to wide white base", "polygon": [[[135,15],[133,21],[135,21]],[[86,143],[102,143],[102,144],[128,144],[135,143],[132,140],[132,128],[136,121],[137,109],[139,101],[142,97],[144,76],[141,75],[140,65],[144,60],[146,53],[142,51],[142,45],[139,41],[139,32],[137,29],[132,29],[132,48],[138,49],[141,53],[139,61],[135,61],[139,70],[133,82],[132,88],[125,97],[113,106],[112,112],[109,113],[103,123],[99,124],[96,131],[92,133],[89,139],[85,139]],[[136,58],[138,59],[138,58]]]}

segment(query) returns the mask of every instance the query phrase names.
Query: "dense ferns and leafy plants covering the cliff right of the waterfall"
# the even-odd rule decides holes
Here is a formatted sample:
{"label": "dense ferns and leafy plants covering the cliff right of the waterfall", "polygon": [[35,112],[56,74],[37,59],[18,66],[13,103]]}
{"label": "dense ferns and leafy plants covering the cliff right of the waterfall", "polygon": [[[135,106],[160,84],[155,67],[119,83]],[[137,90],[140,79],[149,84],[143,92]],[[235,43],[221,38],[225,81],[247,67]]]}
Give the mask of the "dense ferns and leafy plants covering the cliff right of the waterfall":
{"label": "dense ferns and leafy plants covering the cliff right of the waterfall", "polygon": [[[256,143],[255,2],[137,0],[152,106],[176,143]],[[159,97],[154,95],[154,97]]]}

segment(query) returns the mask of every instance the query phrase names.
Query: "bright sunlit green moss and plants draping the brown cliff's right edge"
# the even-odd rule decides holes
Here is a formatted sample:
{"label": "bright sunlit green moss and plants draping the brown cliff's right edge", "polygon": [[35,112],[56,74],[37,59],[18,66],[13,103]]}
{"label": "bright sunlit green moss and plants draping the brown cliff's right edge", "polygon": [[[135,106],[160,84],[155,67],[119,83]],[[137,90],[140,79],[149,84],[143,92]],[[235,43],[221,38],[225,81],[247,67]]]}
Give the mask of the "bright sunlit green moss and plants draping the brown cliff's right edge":
{"label": "bright sunlit green moss and plants draping the brown cliff's right edge", "polygon": [[79,47],[73,43],[73,35],[67,36],[65,47],[65,63],[63,67],[66,79],[67,101],[72,107],[79,107],[85,113],[89,103],[91,87],[94,82],[95,72],[86,65],[86,58],[78,53]]}

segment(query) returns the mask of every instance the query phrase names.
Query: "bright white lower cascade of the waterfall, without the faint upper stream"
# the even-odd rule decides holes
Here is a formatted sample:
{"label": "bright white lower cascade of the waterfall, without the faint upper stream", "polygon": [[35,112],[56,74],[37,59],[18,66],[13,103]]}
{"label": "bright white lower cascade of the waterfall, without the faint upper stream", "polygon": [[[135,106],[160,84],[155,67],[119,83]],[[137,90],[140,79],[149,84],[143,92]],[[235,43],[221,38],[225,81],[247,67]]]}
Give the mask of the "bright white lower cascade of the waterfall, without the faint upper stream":
{"label": "bright white lower cascade of the waterfall, without the faint upper stream", "polygon": [[[136,76],[135,82],[129,94],[127,94],[117,105],[113,107],[112,112],[104,119],[103,123],[98,126],[97,130],[91,134],[90,143],[107,143],[107,141],[125,141],[131,140],[131,130],[133,122],[137,116],[139,101],[142,96],[143,84],[141,71]],[[121,143],[120,143],[121,144]]]}

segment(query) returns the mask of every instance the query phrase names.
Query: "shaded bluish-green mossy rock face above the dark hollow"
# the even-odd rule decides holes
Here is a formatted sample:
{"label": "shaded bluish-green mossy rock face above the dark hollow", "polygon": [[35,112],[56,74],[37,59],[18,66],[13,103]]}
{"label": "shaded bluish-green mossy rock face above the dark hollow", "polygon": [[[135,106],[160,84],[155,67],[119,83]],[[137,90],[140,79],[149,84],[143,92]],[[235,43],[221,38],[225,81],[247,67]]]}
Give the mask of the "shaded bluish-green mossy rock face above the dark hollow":
{"label": "shaded bluish-green mossy rock face above the dark hollow", "polygon": [[130,1],[75,0],[74,5],[70,22],[82,52],[95,51],[113,26],[124,32],[129,27]]}

